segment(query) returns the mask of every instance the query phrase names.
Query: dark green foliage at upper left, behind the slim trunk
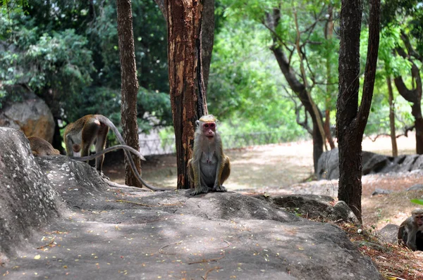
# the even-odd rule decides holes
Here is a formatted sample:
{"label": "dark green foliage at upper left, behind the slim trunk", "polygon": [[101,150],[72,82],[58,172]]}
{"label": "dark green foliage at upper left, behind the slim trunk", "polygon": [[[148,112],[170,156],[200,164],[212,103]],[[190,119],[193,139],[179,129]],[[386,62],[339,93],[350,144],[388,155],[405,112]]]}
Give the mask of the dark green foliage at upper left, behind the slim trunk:
{"label": "dark green foliage at upper left, behind the slim trunk", "polygon": [[[101,113],[120,123],[116,1],[25,3],[0,5],[1,84],[29,85],[65,122]],[[132,7],[140,126],[168,125],[166,21],[154,0],[133,1]],[[12,94],[0,89],[0,106],[6,100],[13,101]],[[152,124],[144,116],[159,120]]]}

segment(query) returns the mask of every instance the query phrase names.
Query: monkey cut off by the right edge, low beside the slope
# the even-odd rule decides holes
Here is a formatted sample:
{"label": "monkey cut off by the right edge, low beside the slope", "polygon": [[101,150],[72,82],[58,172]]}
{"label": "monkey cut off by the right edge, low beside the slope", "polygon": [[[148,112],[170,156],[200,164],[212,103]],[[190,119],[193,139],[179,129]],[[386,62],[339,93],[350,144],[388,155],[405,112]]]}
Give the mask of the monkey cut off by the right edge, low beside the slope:
{"label": "monkey cut off by the right edge, low beside the slope", "polygon": [[417,231],[423,231],[423,209],[420,208],[413,210],[411,217],[405,219],[400,225],[398,229],[398,243],[404,243],[413,251],[417,250]]}

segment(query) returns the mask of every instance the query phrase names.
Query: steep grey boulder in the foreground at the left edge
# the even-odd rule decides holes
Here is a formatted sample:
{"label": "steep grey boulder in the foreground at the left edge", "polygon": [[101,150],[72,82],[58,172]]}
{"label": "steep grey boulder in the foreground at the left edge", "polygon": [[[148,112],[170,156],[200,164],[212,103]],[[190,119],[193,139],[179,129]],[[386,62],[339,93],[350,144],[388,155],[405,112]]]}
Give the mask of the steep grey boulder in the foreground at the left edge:
{"label": "steep grey boulder in the foreground at the left edge", "polygon": [[26,137],[0,127],[0,260],[25,245],[34,229],[59,214],[59,196],[39,168]]}

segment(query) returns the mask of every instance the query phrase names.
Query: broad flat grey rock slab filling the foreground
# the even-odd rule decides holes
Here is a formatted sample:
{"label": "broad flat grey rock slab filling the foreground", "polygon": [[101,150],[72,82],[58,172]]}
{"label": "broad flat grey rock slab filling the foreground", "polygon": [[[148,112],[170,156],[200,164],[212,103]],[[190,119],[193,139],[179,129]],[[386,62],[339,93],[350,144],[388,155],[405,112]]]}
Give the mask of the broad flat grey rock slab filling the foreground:
{"label": "broad flat grey rock slab filling the foreground", "polygon": [[33,232],[25,250],[3,252],[4,279],[381,279],[341,229],[292,215],[278,198],[111,187],[86,163],[34,160],[23,147],[14,153],[46,174],[68,210],[57,208],[63,215]]}

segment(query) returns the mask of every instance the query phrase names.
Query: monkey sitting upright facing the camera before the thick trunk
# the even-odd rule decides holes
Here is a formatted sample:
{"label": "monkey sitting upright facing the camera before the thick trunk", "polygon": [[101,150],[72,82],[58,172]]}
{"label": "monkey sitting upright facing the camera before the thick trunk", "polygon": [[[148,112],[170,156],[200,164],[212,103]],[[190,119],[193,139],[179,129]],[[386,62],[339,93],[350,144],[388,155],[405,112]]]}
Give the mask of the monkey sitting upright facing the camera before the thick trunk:
{"label": "monkey sitting upright facing the camera before the thick trunk", "polygon": [[212,191],[226,191],[223,182],[231,174],[231,163],[223,153],[222,139],[216,130],[214,115],[204,115],[197,120],[194,151],[188,160],[188,174],[194,182],[191,196]]}

